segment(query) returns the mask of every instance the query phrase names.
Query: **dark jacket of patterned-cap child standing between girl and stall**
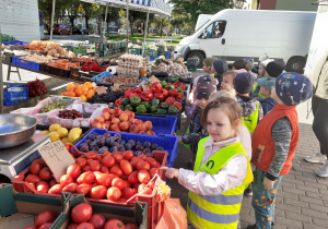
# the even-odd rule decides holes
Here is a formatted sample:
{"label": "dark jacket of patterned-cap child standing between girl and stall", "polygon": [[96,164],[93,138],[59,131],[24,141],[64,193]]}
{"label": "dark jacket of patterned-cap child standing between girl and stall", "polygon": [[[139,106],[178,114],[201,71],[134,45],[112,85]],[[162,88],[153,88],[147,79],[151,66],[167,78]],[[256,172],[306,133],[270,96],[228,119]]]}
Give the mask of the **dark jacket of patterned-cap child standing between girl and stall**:
{"label": "dark jacket of patterned-cap child standing between girl and stall", "polygon": [[195,155],[197,153],[198,142],[203,137],[209,136],[209,132],[200,124],[201,112],[202,110],[200,107],[196,106],[190,118],[189,133],[181,136],[183,143],[190,145],[190,149]]}

